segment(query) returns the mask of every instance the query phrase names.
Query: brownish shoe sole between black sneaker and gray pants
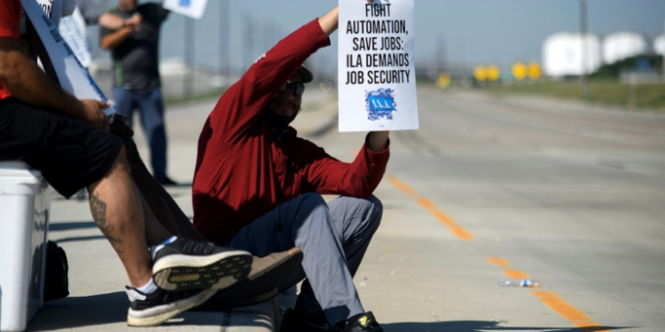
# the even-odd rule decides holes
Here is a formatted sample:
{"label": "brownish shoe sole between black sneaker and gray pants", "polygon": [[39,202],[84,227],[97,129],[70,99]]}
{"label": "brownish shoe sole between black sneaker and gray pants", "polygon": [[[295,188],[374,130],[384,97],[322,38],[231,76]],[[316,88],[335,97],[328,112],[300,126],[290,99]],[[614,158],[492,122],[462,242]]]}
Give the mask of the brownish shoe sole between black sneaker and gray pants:
{"label": "brownish shoe sole between black sneaker and gray pants", "polygon": [[[302,251],[292,249],[289,255],[243,282],[218,291],[207,303],[201,305],[205,311],[223,311],[240,306],[255,305],[268,300],[274,295],[278,286],[286,281],[302,263]],[[271,294],[274,294],[271,296]]]}

